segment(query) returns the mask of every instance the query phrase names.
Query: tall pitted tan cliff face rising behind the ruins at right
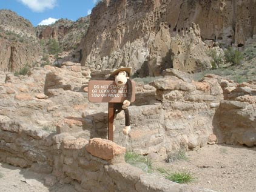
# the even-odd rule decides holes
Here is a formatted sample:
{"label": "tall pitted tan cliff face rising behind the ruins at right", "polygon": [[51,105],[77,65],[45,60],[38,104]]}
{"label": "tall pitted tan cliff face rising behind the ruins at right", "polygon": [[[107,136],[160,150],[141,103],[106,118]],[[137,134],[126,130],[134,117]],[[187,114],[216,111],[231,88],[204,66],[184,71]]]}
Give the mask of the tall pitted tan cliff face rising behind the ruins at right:
{"label": "tall pitted tan cliff face rising behind the ruins at right", "polygon": [[[165,68],[175,67],[178,51],[173,51],[177,50],[173,38],[190,35],[192,47],[183,46],[181,51],[189,51],[185,58],[193,58],[194,67],[187,67],[187,59],[183,59],[175,68],[198,71],[202,68],[198,65],[209,65],[198,60],[199,52],[194,54],[198,44],[204,46],[201,39],[242,47],[246,39],[256,34],[255,10],[255,0],[104,0],[92,11],[82,42],[81,64],[95,68],[129,65],[142,76],[158,75]],[[191,28],[192,22],[201,33],[197,34],[197,27]],[[191,30],[194,34],[190,34]]]}

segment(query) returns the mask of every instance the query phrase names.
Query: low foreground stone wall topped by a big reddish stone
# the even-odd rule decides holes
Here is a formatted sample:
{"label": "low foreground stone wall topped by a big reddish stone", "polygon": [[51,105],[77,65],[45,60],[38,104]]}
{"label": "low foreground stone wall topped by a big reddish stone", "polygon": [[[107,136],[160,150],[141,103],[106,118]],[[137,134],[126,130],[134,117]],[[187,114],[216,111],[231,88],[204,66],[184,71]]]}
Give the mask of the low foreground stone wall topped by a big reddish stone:
{"label": "low foreground stone wall topped by a big reddish stone", "polygon": [[[126,148],[105,139],[19,127],[0,116],[0,161],[44,175],[44,184],[72,184],[77,191],[197,191],[124,162]],[[153,182],[152,182],[153,181]],[[200,189],[201,191],[211,191]]]}

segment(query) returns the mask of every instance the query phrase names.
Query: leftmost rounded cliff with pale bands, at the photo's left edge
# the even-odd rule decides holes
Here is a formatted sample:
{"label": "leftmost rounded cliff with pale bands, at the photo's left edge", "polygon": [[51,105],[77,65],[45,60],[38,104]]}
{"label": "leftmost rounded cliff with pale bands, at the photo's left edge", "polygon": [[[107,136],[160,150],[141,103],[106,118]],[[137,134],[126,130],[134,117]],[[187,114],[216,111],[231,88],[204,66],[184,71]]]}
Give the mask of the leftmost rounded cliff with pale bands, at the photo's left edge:
{"label": "leftmost rounded cliff with pale bands, at the photo's left edge", "polygon": [[33,25],[10,10],[0,10],[0,70],[17,71],[39,60],[41,47]]}

